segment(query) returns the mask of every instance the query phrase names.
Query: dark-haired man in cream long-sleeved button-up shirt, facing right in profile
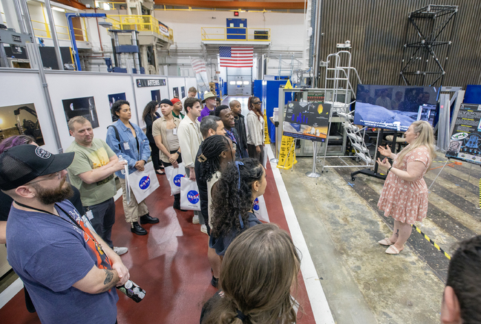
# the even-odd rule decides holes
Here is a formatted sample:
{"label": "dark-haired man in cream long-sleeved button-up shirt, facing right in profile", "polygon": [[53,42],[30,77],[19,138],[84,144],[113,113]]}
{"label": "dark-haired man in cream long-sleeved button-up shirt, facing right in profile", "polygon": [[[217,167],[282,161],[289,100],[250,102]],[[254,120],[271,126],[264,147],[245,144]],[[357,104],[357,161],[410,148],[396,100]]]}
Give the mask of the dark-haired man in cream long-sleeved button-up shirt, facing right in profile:
{"label": "dark-haired man in cream long-sleeved button-up shirt, facing right in profile", "polygon": [[[201,116],[201,100],[187,98],[183,107],[186,109],[187,116],[181,120],[177,136],[179,136],[182,162],[186,166],[186,174],[190,180],[195,181],[195,157],[202,142],[202,134],[199,128],[201,123],[197,120]],[[194,211],[192,224],[199,224],[199,222],[201,222],[201,225],[205,224],[202,214]]]}

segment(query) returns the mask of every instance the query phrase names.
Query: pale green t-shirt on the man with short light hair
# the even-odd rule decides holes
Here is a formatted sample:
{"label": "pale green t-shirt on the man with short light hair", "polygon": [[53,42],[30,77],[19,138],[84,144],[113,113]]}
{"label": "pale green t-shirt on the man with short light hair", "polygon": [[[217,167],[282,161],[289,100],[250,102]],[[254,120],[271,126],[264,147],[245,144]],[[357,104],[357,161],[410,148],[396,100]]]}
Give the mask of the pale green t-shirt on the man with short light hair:
{"label": "pale green t-shirt on the man with short light hair", "polygon": [[111,199],[116,193],[115,180],[113,173],[104,180],[93,184],[86,184],[78,176],[80,173],[98,169],[110,162],[110,158],[115,155],[106,142],[98,138],[92,140],[91,147],[73,142],[67,152],[75,152],[74,161],[67,168],[71,184],[80,191],[82,205],[92,206]]}

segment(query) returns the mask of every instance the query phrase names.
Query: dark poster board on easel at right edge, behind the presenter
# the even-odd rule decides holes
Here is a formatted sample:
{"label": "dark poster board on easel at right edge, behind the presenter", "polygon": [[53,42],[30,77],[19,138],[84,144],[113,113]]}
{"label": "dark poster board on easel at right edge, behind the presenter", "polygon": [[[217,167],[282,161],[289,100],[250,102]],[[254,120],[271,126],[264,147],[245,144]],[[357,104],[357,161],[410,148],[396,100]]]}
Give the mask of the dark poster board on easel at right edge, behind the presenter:
{"label": "dark poster board on easel at right edge, behind the presenter", "polygon": [[481,105],[461,105],[446,157],[481,164]]}

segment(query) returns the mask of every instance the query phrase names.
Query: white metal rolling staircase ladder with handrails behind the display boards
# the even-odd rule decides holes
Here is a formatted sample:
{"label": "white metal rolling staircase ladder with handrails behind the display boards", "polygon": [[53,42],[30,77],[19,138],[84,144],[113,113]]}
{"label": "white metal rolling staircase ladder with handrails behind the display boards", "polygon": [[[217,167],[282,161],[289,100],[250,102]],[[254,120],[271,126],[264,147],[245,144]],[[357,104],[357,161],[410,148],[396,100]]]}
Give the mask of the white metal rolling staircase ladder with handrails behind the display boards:
{"label": "white metal rolling staircase ladder with handrails behind the display boards", "polygon": [[[342,65],[345,62],[346,65]],[[326,77],[324,78],[324,91],[326,91],[326,103],[331,104],[331,114],[329,115],[329,126],[326,136],[324,156],[322,157],[322,172],[324,168],[353,168],[353,167],[363,167],[374,165],[374,160],[372,160],[369,153],[369,149],[366,147],[364,142],[364,136],[361,134],[361,130],[366,131],[366,128],[359,129],[353,124],[353,111],[349,112],[349,106],[353,103],[350,102],[350,94],[355,96],[353,86],[350,83],[351,71],[353,75],[357,77],[359,84],[361,83],[361,78],[355,67],[351,67],[351,54],[348,51],[339,51],[333,54],[329,54],[326,59]],[[328,90],[331,90],[332,98],[327,98]],[[342,98],[344,97],[344,98]],[[344,126],[344,136],[346,136],[355,151],[355,157],[363,160],[366,164],[363,165],[350,165],[347,164],[343,158],[353,158],[350,155],[344,156],[326,156],[328,153],[328,143],[329,143],[329,133],[331,132],[331,124],[333,122],[333,114],[337,114],[339,119],[342,121]],[[344,138],[343,136],[343,138]],[[345,142],[344,142],[345,143]],[[345,146],[343,145],[345,149]],[[326,165],[326,158],[339,158],[344,164],[341,166]],[[327,170],[326,170],[327,172]]]}

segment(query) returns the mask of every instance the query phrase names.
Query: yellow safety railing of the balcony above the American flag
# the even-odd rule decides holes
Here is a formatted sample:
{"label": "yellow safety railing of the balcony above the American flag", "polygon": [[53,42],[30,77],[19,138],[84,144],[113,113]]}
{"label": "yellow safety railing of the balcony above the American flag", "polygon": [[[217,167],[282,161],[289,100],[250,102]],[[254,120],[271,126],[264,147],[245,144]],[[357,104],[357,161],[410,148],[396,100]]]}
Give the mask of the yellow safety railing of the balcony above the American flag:
{"label": "yellow safety railing of the balcony above the American flag", "polygon": [[[233,32],[234,30],[238,32]],[[256,33],[258,32],[258,33]],[[202,41],[271,41],[270,28],[202,27]]]}

